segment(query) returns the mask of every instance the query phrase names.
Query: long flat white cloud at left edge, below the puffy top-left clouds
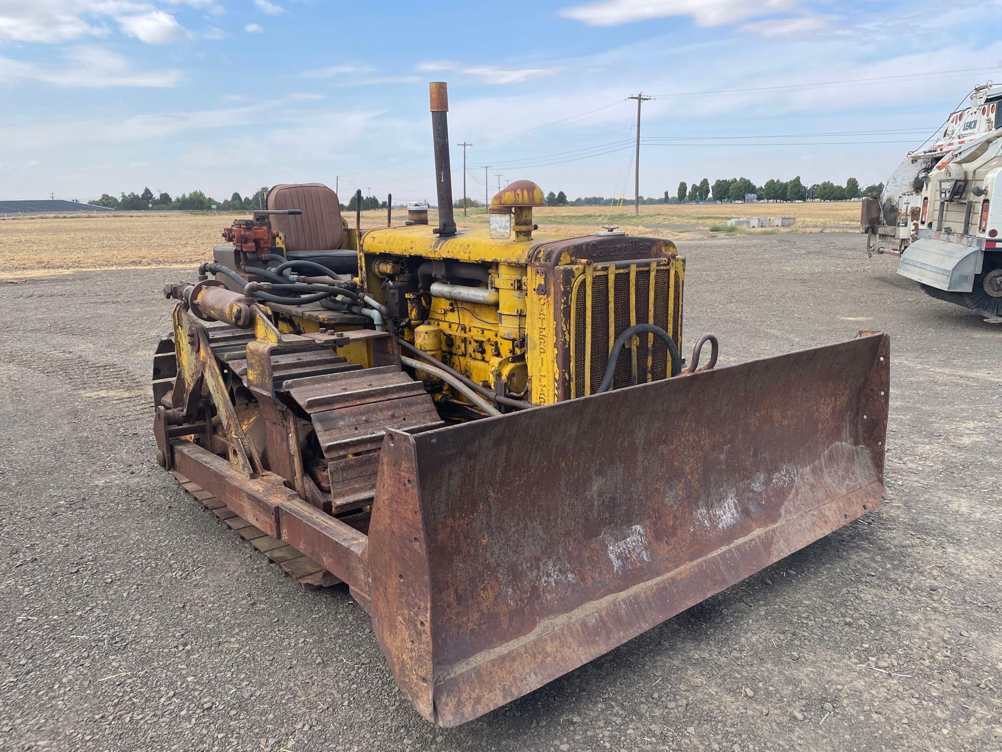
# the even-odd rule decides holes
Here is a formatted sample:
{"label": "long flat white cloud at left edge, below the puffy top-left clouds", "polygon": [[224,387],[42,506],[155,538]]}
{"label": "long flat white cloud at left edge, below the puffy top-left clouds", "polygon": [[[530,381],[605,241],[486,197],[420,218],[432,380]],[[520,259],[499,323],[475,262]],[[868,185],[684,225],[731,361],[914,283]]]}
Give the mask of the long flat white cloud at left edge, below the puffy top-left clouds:
{"label": "long flat white cloud at left edge, below the puffy top-left clouds", "polygon": [[34,63],[0,57],[0,81],[17,84],[38,81],[55,86],[176,86],[182,78],[179,70],[166,68],[155,71],[132,70],[121,55],[99,47],[75,47],[64,54],[58,65]]}

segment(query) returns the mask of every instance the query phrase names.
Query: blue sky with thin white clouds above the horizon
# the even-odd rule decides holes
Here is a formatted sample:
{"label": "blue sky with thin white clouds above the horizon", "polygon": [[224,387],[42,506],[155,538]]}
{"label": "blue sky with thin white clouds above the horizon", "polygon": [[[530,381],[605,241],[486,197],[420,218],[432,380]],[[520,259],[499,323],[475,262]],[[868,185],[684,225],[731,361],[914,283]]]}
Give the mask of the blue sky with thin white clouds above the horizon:
{"label": "blue sky with thin white clouds above the horizon", "polygon": [[975,84],[1002,79],[1002,2],[943,8],[0,0],[0,198],[148,185],[221,200],[340,175],[346,200],[433,199],[430,80],[449,82],[451,140],[473,143],[475,198],[483,164],[490,194],[501,173],[631,197],[637,91],[655,95],[641,194],[737,175],[875,182]]}

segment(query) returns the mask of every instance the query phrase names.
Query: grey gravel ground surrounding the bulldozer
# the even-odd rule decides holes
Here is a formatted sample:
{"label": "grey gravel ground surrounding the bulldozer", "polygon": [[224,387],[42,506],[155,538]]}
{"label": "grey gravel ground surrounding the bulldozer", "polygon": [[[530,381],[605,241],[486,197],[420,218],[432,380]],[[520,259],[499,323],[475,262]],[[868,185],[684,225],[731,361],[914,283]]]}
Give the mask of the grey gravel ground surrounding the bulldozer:
{"label": "grey gravel ground surrounding the bulldozer", "polygon": [[[722,362],[892,335],[890,500],[458,729],[344,586],[305,590],[153,462],[177,271],[3,286],[0,748],[1002,749],[1002,328],[856,235],[679,244]],[[193,277],[193,275],[190,275]]]}

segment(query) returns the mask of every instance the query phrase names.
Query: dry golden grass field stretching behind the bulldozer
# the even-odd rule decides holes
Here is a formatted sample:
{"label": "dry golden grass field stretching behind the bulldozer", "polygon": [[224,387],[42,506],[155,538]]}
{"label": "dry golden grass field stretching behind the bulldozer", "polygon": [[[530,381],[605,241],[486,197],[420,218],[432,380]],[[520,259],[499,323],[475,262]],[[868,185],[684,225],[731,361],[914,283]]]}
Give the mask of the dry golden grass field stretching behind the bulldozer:
{"label": "dry golden grass field stretching behind the bulldozer", "polygon": [[[430,213],[435,224],[435,212]],[[541,229],[559,229],[568,237],[586,235],[602,226],[618,226],[630,233],[660,238],[706,237],[710,227],[725,225],[732,217],[796,217],[792,232],[853,231],[858,228],[859,204],[758,204],[758,205],[650,205],[640,207],[639,218],[631,205],[610,207],[546,207],[535,212]],[[134,267],[191,267],[211,256],[219,233],[235,215],[89,216],[16,218],[0,222],[0,276],[28,276],[65,271]],[[355,218],[347,216],[350,224]],[[406,212],[394,212],[394,223],[403,224]],[[468,217],[457,211],[460,227],[484,226],[483,209]],[[364,212],[363,228],[382,227],[385,211]],[[740,231],[742,235],[770,234],[775,230]],[[786,231],[785,231],[786,232]]]}

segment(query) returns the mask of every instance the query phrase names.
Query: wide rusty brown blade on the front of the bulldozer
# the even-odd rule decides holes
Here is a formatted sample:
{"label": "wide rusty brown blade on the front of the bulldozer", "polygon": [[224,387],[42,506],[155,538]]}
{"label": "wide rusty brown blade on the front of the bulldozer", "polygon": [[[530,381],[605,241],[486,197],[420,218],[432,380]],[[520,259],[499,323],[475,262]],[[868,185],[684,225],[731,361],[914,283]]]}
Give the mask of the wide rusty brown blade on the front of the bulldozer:
{"label": "wide rusty brown blade on the front of the bulldozer", "polygon": [[881,503],[889,337],[409,435],[369,529],[373,626],[454,726]]}

